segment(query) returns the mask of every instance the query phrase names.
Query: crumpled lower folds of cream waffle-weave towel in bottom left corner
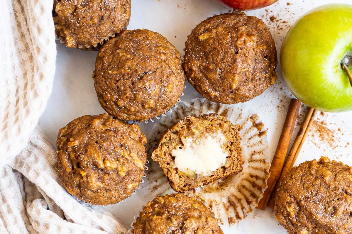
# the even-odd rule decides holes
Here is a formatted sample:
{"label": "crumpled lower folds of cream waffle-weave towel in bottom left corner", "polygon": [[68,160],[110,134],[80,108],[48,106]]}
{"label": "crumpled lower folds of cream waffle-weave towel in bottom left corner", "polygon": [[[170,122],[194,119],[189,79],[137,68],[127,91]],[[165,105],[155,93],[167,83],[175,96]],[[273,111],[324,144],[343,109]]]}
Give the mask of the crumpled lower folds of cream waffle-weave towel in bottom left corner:
{"label": "crumpled lower folds of cream waffle-weave towel in bottom left corner", "polygon": [[81,204],[57,183],[56,153],[38,130],[0,170],[0,233],[127,234],[107,211]]}

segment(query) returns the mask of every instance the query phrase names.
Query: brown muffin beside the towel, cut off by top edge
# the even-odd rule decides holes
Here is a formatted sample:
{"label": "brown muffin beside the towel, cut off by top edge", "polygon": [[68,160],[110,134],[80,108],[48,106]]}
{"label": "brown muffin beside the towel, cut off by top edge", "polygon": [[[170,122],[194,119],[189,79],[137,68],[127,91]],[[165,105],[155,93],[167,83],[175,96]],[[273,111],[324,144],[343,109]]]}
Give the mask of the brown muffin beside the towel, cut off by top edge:
{"label": "brown muffin beside the towel, cut off by top edge", "polygon": [[130,20],[131,0],[54,0],[55,33],[68,47],[92,49]]}

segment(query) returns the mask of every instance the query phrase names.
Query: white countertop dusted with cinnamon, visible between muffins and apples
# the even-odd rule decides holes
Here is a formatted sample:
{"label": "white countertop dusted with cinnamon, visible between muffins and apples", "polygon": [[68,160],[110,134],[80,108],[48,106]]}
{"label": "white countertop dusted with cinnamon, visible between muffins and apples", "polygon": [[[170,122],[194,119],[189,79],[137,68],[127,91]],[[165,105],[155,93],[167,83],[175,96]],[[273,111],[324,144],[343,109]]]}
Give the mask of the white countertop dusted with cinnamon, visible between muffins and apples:
{"label": "white countertop dusted with cinnamon, visible between muffins and apples", "polygon": [[[268,8],[250,11],[248,14],[255,15],[268,24],[279,53],[279,48],[289,26],[302,13],[315,6],[333,2],[336,0],[281,0]],[[350,0],[338,2],[351,3]],[[184,42],[197,24],[207,17],[229,10],[229,8],[212,0],[132,0],[131,20],[128,29],[145,28],[159,32],[184,54]],[[276,18],[274,19],[272,16]],[[270,20],[270,17],[274,22]],[[97,52],[69,49],[57,42],[54,88],[48,106],[39,120],[40,128],[52,141],[54,147],[59,128],[82,115],[104,112],[99,105],[94,90],[94,81],[91,78],[96,55]],[[254,112],[264,122],[265,128],[268,129],[272,155],[281,133],[289,99],[292,97],[282,79],[280,67],[277,68],[277,73],[279,77],[277,83],[249,102]],[[188,82],[186,82],[186,86],[185,95],[181,97],[182,101],[201,97]],[[316,131],[318,123],[313,127],[297,163],[320,156],[328,156],[352,165],[352,112],[326,113],[325,115],[319,113],[317,120],[318,122],[323,121],[323,125],[326,126],[325,133]],[[149,122],[147,125],[143,123],[140,126],[142,131],[148,135],[153,123]],[[329,137],[332,139],[326,140]],[[129,226],[134,215],[147,202],[143,199],[143,192],[145,191],[138,190],[126,202],[106,209]],[[225,233],[234,233],[234,231],[239,231],[239,233],[260,232],[262,234],[286,233],[279,226],[270,209],[265,211],[255,209],[247,219],[233,224],[231,227],[222,228]]]}

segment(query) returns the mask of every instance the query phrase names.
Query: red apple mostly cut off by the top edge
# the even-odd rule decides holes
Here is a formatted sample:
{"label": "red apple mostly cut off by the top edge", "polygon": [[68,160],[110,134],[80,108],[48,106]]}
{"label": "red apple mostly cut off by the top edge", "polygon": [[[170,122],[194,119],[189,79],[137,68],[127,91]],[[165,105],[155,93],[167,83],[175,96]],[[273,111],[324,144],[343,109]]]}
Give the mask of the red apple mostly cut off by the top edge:
{"label": "red apple mostly cut off by the top edge", "polygon": [[221,0],[235,10],[247,11],[269,6],[278,0]]}

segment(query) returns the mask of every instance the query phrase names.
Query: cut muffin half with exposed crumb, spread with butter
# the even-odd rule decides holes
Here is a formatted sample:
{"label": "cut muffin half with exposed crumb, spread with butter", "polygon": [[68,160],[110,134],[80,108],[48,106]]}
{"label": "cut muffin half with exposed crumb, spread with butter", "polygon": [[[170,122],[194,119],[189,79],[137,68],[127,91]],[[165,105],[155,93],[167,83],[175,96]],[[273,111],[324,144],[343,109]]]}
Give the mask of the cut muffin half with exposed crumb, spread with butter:
{"label": "cut muffin half with exposed crumb, spread with butter", "polygon": [[152,159],[176,192],[213,183],[243,169],[240,128],[218,114],[186,117],[164,132]]}

